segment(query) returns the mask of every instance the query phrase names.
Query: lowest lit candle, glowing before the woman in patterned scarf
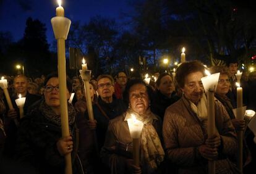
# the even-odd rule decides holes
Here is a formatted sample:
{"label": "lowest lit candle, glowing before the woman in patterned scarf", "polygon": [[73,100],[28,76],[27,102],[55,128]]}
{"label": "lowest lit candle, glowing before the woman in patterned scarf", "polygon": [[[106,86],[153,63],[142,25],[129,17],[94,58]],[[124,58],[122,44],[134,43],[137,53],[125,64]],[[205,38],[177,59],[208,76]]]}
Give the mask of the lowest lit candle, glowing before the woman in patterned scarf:
{"label": "lowest lit candle, glowing before the woman in patterned scarf", "polygon": [[140,165],[140,153],[139,153],[139,139],[142,133],[143,123],[140,120],[137,120],[134,115],[131,115],[132,118],[128,118],[128,126],[130,131],[130,136],[132,137],[132,147],[133,147],[133,158],[134,164],[139,166]]}

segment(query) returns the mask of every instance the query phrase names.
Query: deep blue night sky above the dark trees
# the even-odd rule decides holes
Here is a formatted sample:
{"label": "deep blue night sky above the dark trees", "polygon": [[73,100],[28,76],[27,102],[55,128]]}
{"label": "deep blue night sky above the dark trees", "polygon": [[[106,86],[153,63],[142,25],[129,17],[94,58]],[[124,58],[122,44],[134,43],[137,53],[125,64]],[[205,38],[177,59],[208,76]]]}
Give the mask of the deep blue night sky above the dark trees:
{"label": "deep blue night sky above the dark trees", "polygon": [[[122,12],[129,12],[127,0],[65,0],[62,1],[65,16],[71,21],[88,22],[101,15],[122,22]],[[55,16],[56,0],[0,0],[0,31],[11,31],[14,41],[22,38],[28,17],[46,24],[48,43],[54,39],[51,17]],[[71,23],[72,27],[72,23]]]}

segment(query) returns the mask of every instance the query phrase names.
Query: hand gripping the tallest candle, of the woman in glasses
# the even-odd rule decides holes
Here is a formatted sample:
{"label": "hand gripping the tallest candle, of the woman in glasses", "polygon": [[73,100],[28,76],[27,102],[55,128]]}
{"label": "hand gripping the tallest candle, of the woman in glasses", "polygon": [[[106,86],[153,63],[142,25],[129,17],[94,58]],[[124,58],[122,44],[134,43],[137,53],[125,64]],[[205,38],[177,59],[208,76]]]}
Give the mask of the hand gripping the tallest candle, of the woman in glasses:
{"label": "hand gripping the tallest candle, of the woman in glasses", "polygon": [[56,145],[59,154],[61,154],[62,156],[69,154],[70,152],[73,151],[72,136],[66,136],[64,138],[59,139]]}

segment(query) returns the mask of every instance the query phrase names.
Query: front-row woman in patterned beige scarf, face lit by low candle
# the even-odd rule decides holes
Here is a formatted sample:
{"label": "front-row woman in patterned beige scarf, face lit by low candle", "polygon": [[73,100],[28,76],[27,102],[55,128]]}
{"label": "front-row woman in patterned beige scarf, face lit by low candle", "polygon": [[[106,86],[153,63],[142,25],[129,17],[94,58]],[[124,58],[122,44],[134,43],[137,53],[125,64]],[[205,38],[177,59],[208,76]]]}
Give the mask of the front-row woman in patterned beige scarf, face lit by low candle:
{"label": "front-row woman in patterned beige scarf, face lit by low candle", "polygon": [[[101,149],[103,162],[111,173],[154,173],[164,159],[161,146],[161,118],[150,110],[148,88],[142,80],[131,80],[124,91],[129,109],[109,122],[105,144]],[[132,160],[132,137],[127,120],[135,117],[143,123],[140,140],[140,166]]]}

